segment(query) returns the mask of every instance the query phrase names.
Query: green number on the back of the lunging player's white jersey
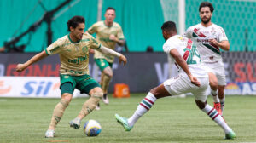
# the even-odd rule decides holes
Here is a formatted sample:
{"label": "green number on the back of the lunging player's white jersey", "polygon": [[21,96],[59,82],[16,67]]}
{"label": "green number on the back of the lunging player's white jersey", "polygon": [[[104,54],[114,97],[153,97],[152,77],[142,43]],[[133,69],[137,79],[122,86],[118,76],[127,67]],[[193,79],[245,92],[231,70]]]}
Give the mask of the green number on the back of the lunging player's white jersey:
{"label": "green number on the back of the lunging player's white jersey", "polygon": [[188,40],[187,46],[184,50],[183,59],[187,61],[188,65],[201,63],[200,55],[192,40]]}

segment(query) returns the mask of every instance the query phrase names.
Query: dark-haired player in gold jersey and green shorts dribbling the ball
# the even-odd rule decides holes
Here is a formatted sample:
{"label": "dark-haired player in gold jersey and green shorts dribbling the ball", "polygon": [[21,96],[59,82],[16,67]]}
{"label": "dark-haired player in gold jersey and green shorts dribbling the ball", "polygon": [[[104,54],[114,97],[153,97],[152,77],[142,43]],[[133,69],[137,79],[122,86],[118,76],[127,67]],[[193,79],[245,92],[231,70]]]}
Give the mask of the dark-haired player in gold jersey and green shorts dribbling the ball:
{"label": "dark-haired player in gold jersey and green shorts dribbling the ball", "polygon": [[55,106],[49,129],[45,137],[53,138],[56,124],[60,122],[61,117],[68,104],[72,100],[73,90],[79,89],[82,93],[90,94],[90,99],[84,102],[78,117],[74,118],[69,124],[74,129],[79,129],[81,120],[92,112],[99,101],[102,99],[103,92],[99,83],[89,75],[89,50],[96,49],[104,54],[119,57],[119,62],[126,64],[126,58],[112,49],[108,49],[96,42],[96,39],[89,33],[84,33],[85,20],[82,16],[74,16],[67,21],[68,31],[70,33],[59,38],[55,43],[49,45],[43,52],[36,54],[24,64],[16,66],[17,72],[24,71],[28,66],[42,60],[48,55],[59,54],[61,60],[60,78],[61,78],[61,101]]}

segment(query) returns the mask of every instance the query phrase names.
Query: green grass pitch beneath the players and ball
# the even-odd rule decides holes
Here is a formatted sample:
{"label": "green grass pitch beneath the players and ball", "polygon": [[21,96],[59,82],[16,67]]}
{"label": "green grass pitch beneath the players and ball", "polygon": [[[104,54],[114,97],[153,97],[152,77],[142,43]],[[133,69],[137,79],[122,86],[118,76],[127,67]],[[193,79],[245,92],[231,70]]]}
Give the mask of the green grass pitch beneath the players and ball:
{"label": "green grass pitch beneath the players and ball", "polygon": [[[236,132],[235,140],[224,140],[224,132],[204,112],[192,96],[157,100],[149,112],[140,118],[131,130],[116,122],[115,113],[130,117],[146,94],[131,94],[131,98],[110,98],[110,105],[91,112],[89,119],[102,125],[97,137],[87,137],[83,127],[74,130],[68,122],[77,116],[86,98],[73,99],[61,123],[55,129],[55,138],[46,139],[50,117],[59,99],[0,98],[0,142],[256,142],[256,96],[227,96],[224,118]],[[212,105],[212,97],[208,97]]]}

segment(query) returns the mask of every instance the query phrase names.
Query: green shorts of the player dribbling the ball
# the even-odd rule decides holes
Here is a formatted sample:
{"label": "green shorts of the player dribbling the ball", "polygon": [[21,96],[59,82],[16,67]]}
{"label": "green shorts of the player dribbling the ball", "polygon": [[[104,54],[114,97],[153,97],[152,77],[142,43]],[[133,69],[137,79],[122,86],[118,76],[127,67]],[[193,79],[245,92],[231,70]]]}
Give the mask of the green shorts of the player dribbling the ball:
{"label": "green shorts of the player dribbling the ball", "polygon": [[[101,87],[99,83],[96,82],[90,75],[83,75],[83,76],[71,76],[71,75],[62,75],[60,74],[61,78],[61,94],[69,93],[73,94],[73,90],[79,89],[81,93],[89,94],[91,89],[94,89],[96,87]],[[71,84],[65,84],[65,83],[72,83]],[[65,84],[63,87],[62,85]]]}

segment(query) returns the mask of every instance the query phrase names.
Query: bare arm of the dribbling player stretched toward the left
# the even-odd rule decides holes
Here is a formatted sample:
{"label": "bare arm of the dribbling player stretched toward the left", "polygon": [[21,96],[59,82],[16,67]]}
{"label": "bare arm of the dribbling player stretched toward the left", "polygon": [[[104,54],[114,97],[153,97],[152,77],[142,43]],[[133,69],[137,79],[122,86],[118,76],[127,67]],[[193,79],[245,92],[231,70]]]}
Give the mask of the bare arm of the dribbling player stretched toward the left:
{"label": "bare arm of the dribbling player stretched toward the left", "polygon": [[47,54],[45,51],[34,55],[30,60],[27,60],[24,64],[18,64],[16,66],[16,72],[24,71],[26,67],[31,66],[33,63],[37,62],[38,60],[44,59],[44,57],[47,57]]}

